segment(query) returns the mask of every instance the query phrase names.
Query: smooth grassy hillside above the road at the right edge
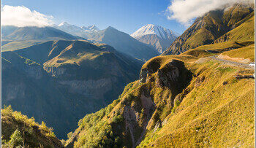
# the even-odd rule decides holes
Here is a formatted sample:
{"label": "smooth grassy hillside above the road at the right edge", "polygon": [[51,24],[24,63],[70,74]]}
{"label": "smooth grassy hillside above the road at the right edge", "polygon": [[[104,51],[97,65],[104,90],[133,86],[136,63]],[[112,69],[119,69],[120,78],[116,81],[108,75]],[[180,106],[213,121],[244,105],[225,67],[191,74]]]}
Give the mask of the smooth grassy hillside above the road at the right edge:
{"label": "smooth grassy hillside above the road at the right edge", "polygon": [[[224,52],[223,55],[230,55],[232,58],[250,58],[251,61],[254,61],[254,40],[255,15],[254,12],[252,12],[245,17],[244,20],[241,20],[241,24],[239,24],[238,27],[219,37],[214,44],[196,47],[195,49],[188,50],[181,54],[194,55],[200,58]],[[216,53],[214,54],[211,51]]]}

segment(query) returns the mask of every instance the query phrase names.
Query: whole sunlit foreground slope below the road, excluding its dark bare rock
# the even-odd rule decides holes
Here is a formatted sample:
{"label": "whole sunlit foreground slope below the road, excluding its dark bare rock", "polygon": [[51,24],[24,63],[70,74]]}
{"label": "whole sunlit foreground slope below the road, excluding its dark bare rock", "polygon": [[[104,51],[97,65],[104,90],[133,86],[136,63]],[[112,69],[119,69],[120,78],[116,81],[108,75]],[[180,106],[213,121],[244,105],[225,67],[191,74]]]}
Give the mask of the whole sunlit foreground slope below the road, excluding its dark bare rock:
{"label": "whole sunlit foreground slope below the road, excluding its dark bare rock", "polygon": [[[143,68],[152,68],[152,63],[159,63],[157,67],[162,69],[172,59],[184,61],[187,69],[192,71],[194,77],[184,89],[189,93],[183,91],[178,95],[181,97],[176,97],[177,93],[173,91],[176,86],[162,88],[155,82],[146,82],[143,85],[138,81],[130,83],[113,104],[80,120],[79,128],[73,134],[73,138],[77,139],[75,147],[132,147],[131,135],[124,130],[127,124],[124,114],[126,106],[137,109],[136,114],[140,119],[137,122],[130,121],[137,126],[133,134],[135,139],[140,137],[146,122],[147,133],[139,147],[232,147],[239,144],[252,146],[255,128],[252,87],[254,81],[237,80],[233,75],[252,74],[253,71],[225,66],[216,61],[194,63],[196,58],[189,55],[153,58],[145,63]],[[151,77],[157,79],[155,74]],[[238,87],[242,89],[237,90]],[[142,92],[147,89],[156,104],[149,121],[145,120],[148,114],[143,111],[145,108],[140,103],[143,99]],[[162,122],[162,128],[155,128],[159,121]],[[230,133],[225,134],[227,132]],[[69,139],[67,143],[74,139]]]}

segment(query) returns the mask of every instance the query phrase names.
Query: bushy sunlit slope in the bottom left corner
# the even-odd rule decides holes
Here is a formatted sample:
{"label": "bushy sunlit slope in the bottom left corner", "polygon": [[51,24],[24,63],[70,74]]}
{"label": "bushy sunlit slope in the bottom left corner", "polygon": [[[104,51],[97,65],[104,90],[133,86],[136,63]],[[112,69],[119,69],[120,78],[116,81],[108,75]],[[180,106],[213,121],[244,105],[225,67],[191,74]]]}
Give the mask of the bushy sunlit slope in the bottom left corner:
{"label": "bushy sunlit slope in the bottom left corner", "polygon": [[[18,130],[20,135],[13,141],[12,133]],[[1,142],[2,147],[13,147],[12,144],[23,146],[23,138],[25,136],[25,144],[29,147],[63,147],[61,141],[56,138],[53,128],[48,128],[44,122],[40,125],[34,122],[34,118],[28,118],[20,112],[13,112],[11,106],[1,109]],[[18,141],[21,138],[21,141]],[[10,141],[10,139],[12,139]]]}

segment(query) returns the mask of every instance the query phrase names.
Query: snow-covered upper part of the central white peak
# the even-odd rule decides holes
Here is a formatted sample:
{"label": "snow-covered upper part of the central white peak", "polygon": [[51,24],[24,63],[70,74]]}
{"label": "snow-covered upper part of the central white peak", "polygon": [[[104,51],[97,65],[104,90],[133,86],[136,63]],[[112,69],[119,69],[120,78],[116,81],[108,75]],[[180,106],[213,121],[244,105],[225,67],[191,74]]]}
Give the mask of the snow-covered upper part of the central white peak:
{"label": "snow-covered upper part of the central white peak", "polygon": [[178,36],[177,33],[175,33],[174,31],[170,31],[170,29],[156,26],[153,24],[147,24],[146,26],[139,28],[138,31],[135,31],[135,33],[131,34],[131,36],[134,38],[140,38],[141,36],[145,36],[148,34],[156,34],[162,39],[170,39],[173,36]]}

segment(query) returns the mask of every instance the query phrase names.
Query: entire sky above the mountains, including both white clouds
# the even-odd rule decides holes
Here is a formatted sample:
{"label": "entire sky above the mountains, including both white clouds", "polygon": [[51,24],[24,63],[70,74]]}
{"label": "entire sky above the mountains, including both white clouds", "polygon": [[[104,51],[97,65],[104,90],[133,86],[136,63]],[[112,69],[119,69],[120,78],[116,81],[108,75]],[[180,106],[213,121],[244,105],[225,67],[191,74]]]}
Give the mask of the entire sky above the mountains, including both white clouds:
{"label": "entire sky above the mountains, including both white clouds", "polygon": [[132,34],[146,24],[182,34],[206,12],[254,0],[2,0],[1,24],[108,26]]}

